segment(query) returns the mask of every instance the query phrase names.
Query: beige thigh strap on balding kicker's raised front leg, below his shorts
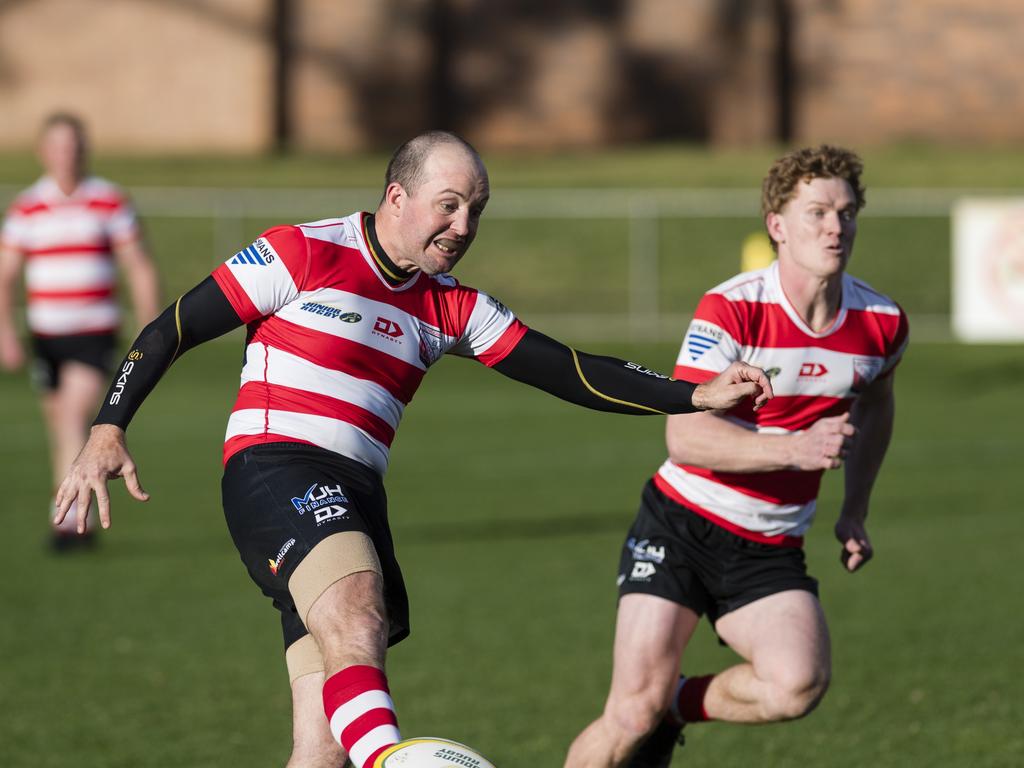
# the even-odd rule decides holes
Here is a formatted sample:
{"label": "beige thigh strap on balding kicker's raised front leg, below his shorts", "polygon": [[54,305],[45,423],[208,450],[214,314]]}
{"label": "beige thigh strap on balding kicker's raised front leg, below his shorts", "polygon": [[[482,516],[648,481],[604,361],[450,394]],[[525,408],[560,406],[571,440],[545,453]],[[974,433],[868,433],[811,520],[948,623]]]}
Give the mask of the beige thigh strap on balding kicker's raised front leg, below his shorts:
{"label": "beige thigh strap on balding kicker's raised front leg, below his shorts", "polygon": [[313,547],[288,581],[288,591],[292,593],[302,624],[306,624],[309,608],[328,587],[362,570],[383,575],[377,550],[366,534],[344,530]]}

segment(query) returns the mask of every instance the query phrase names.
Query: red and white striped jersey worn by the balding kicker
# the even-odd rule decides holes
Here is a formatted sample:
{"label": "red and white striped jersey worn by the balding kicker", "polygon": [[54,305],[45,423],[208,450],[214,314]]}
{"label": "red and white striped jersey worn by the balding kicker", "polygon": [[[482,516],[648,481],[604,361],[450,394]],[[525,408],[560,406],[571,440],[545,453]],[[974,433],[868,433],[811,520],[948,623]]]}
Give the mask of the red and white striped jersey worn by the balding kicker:
{"label": "red and white striped jersey worn by the balding kicker", "polygon": [[213,272],[248,325],[224,461],[298,441],[381,474],[402,413],[442,354],[500,362],[526,333],[501,302],[447,274],[390,285],[355,213],[267,230]]}

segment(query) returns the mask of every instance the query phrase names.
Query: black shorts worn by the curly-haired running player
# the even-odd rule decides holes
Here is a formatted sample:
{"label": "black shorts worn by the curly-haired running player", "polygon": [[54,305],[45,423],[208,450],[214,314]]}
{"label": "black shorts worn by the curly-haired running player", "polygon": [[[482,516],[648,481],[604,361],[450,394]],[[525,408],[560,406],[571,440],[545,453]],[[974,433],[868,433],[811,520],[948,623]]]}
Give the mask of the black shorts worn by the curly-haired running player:
{"label": "black shorts worn by the curly-haired running player", "polygon": [[708,614],[787,590],[818,594],[800,547],[743,539],[676,503],[648,480],[623,548],[618,594],[656,595]]}

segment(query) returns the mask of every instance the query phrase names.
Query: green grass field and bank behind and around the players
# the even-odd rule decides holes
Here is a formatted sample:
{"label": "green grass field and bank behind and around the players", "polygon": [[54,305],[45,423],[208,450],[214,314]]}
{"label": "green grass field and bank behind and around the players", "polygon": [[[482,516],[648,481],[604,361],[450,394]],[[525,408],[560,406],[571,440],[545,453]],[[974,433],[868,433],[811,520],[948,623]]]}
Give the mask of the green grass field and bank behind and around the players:
{"label": "green grass field and bank behind and around the players", "polygon": [[[535,185],[754,187],[774,155],[653,147],[488,161],[497,198]],[[865,158],[869,199],[872,183],[1019,185],[1012,150],[894,147]],[[377,184],[382,163],[101,158],[97,170],[129,188],[361,186]],[[0,157],[0,183],[34,173],[24,156]],[[247,220],[243,233],[270,223]],[[662,307],[691,310],[700,291],[735,271],[738,243],[756,226],[742,217],[664,221]],[[212,267],[209,219],[150,218],[146,227],[168,296]],[[948,220],[865,218],[859,237],[855,274],[911,319],[948,311]],[[553,308],[616,310],[625,239],[622,222],[485,221],[460,276],[527,322]],[[538,290],[528,274],[542,271]],[[663,370],[675,357],[670,345],[586,348]],[[239,339],[213,343],[167,375],[129,432],[153,500],[140,505],[119,488],[98,550],[68,558],[43,546],[49,472],[27,376],[0,375],[0,765],[284,763],[290,702],[276,614],[249,582],[219,503],[240,357]],[[809,537],[834,638],[830,692],[798,723],[692,727],[678,765],[1024,765],[1022,379],[1019,346],[911,342],[873,497],[876,560],[855,575],[839,566],[839,475],[826,479]],[[413,636],[389,656],[407,735],[464,740],[500,768],[561,765],[606,691],[618,550],[664,457],[662,430],[659,419],[573,409],[465,360],[431,373],[387,479],[413,603]],[[730,659],[702,629],[685,669]]]}

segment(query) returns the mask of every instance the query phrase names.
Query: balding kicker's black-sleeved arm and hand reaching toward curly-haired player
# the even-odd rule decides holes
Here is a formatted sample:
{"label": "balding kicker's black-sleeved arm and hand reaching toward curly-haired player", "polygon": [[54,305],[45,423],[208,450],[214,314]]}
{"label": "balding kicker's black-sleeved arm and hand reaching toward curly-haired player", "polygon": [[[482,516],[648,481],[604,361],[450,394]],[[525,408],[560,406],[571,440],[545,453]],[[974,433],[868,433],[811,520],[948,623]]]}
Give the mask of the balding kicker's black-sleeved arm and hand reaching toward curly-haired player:
{"label": "balding kicker's black-sleeved arm and hand reaching toward curly-haired player", "polygon": [[563,400],[616,414],[680,414],[731,408],[745,397],[761,408],[772,396],[761,369],[736,362],[703,384],[677,381],[616,357],[588,354],[527,331],[494,369]]}

